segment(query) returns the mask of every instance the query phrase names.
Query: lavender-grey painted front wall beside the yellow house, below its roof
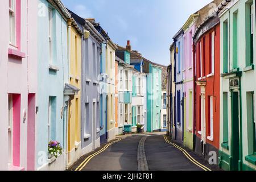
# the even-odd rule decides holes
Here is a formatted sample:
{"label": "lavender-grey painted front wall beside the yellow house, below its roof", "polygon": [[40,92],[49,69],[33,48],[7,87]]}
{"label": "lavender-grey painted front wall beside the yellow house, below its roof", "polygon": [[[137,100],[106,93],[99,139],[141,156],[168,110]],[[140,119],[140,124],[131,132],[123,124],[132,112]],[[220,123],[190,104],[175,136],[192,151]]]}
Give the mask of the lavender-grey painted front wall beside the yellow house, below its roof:
{"label": "lavender-grey painted front wall beside the yellow house, below its roof", "polygon": [[[100,74],[100,47],[101,43],[92,35],[82,41],[82,155],[100,147],[100,93],[97,81]],[[97,106],[94,121],[93,103]]]}

